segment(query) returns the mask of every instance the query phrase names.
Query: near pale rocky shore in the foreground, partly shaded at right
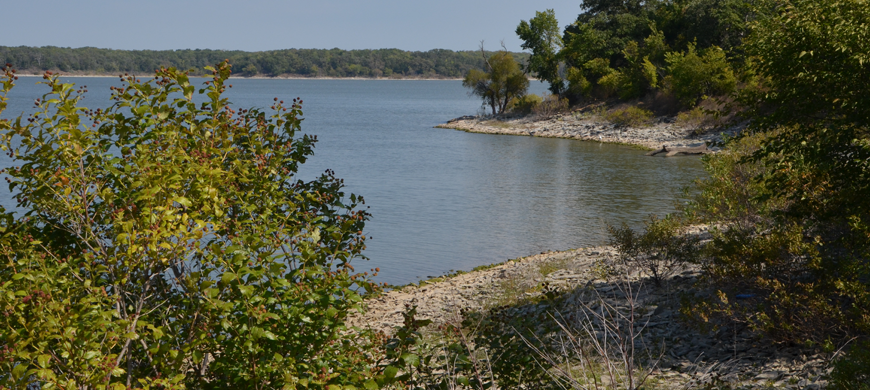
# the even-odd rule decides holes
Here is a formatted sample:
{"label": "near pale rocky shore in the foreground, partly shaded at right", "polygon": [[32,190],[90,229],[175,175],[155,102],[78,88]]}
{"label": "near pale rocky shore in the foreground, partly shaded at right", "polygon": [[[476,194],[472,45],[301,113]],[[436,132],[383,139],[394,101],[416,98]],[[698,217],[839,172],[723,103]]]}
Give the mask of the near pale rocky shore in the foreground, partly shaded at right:
{"label": "near pale rocky shore in the foreground, partly shaded at right", "polygon": [[[703,234],[703,233],[701,233]],[[390,333],[402,323],[406,307],[416,306],[418,318],[437,325],[455,320],[460,311],[504,310],[513,315],[541,318],[558,313],[576,318],[590,299],[625,304],[624,285],[602,276],[600,265],[617,255],[612,247],[546,252],[490,268],[423,281],[396,288],[367,301],[368,311],[351,319],[354,326]],[[829,354],[763,341],[746,327],[723,327],[705,334],[688,326],[679,313],[679,297],[711,294],[699,284],[700,272],[685,269],[655,287],[644,275],[631,278],[642,321],[635,324],[644,338],[665,345],[653,380],[659,388],[818,389],[827,384]],[[540,286],[546,286],[541,289]],[[558,292],[556,299],[542,294]],[[573,314],[572,314],[573,313]],[[574,317],[571,317],[571,316]]]}

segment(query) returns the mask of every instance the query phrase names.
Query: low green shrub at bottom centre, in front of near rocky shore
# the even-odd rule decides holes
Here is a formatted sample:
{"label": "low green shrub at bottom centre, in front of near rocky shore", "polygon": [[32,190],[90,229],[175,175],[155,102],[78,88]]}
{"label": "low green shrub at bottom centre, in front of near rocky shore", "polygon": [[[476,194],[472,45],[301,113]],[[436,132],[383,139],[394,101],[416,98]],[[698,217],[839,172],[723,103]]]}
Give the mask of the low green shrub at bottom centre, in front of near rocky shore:
{"label": "low green shrub at bottom centre, in front of near rocky shore", "polygon": [[[534,356],[545,348],[533,328],[551,323],[543,315],[518,315],[520,307],[461,311],[438,326],[417,320],[416,307],[385,343],[381,386],[401,389],[557,389]],[[527,340],[536,342],[527,344]],[[540,350],[540,349],[539,349]],[[549,351],[549,349],[548,349]]]}

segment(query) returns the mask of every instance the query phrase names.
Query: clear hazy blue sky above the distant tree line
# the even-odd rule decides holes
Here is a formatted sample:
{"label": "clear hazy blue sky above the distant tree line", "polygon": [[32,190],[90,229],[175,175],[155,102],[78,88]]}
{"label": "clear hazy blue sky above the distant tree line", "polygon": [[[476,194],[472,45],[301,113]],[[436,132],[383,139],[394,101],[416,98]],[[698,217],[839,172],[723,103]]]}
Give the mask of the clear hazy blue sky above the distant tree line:
{"label": "clear hazy blue sky above the distant tree line", "polygon": [[340,48],[473,50],[552,8],[563,27],[579,0],[0,0],[2,46],[261,51]]}

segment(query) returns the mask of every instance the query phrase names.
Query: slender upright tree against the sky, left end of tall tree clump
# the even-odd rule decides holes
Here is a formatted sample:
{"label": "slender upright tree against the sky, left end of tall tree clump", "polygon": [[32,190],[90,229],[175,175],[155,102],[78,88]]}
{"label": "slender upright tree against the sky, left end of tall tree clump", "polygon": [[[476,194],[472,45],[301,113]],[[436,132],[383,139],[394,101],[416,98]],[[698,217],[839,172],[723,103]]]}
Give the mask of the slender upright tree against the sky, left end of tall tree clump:
{"label": "slender upright tree against the sky, left end of tall tree clump", "polygon": [[550,92],[561,95],[565,92],[565,81],[559,74],[559,52],[562,38],[559,35],[559,22],[552,9],[535,12],[535,17],[520,22],[516,29],[523,40],[522,48],[531,50],[526,71],[534,73],[538,80],[550,83]]}

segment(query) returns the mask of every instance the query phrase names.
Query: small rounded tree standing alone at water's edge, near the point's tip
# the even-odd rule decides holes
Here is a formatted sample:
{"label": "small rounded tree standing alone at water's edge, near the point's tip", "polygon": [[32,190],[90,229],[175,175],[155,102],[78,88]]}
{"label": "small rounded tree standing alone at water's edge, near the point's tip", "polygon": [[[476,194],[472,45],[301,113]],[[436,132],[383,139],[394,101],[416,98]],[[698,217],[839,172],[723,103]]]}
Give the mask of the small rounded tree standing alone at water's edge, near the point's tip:
{"label": "small rounded tree standing alone at water's edge, near the point's tip", "polygon": [[482,98],[483,104],[492,108],[492,115],[498,115],[505,111],[511,100],[526,94],[529,79],[511,53],[502,50],[487,57],[482,45],[480,52],[489,72],[472,69],[465,75],[462,85],[470,88],[471,94]]}

